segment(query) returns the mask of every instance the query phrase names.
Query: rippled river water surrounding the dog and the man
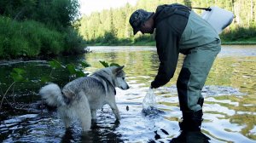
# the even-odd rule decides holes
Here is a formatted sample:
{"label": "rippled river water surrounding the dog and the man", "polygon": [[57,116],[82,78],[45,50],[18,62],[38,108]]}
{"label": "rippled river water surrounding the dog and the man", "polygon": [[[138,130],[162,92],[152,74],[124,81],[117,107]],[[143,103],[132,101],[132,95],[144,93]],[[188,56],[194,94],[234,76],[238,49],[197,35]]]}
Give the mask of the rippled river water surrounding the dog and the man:
{"label": "rippled river water surrounding the dog and the man", "polygon": [[[63,65],[85,60],[95,72],[103,66],[99,60],[125,65],[130,89],[117,89],[121,120],[115,121],[109,106],[97,111],[97,121],[89,132],[82,132],[79,122],[66,130],[57,112],[42,102],[38,90],[40,78],[51,74],[53,83],[63,87],[68,81],[65,70],[52,71],[48,60],[0,62],[1,142],[256,142],[256,46],[223,46],[207,83],[201,132],[181,133],[176,80],[182,66],[179,57],[172,80],[154,89],[157,110],[143,112],[143,98],[158,69],[154,47],[90,47],[91,53],[57,58]],[[13,68],[26,70],[27,83],[15,83],[6,98],[3,94],[13,82]],[[147,111],[146,111],[147,112]],[[190,142],[192,140],[189,140]]]}

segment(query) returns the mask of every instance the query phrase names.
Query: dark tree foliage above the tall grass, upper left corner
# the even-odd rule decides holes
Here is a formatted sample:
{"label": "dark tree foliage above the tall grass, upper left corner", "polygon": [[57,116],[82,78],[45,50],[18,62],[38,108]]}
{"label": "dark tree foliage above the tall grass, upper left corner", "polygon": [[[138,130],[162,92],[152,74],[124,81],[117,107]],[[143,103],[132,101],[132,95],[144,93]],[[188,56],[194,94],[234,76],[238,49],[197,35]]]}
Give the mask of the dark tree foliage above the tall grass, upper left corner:
{"label": "dark tree foliage above the tall grass, upper left corner", "polygon": [[79,17],[78,0],[2,0],[0,14],[15,20],[37,20],[56,28],[72,26]]}

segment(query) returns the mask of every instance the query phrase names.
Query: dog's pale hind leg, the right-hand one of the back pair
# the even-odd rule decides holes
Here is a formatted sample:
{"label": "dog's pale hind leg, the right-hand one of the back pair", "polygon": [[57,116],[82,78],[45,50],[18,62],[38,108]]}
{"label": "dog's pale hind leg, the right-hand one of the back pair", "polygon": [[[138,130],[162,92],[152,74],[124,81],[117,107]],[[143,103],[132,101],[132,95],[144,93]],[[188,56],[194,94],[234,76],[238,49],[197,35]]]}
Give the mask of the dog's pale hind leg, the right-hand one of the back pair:
{"label": "dog's pale hind leg, the right-hand one of the back pair", "polygon": [[79,100],[79,103],[77,105],[76,112],[79,117],[79,121],[82,124],[83,131],[88,131],[90,130],[91,124],[90,105],[84,92],[80,92],[79,96],[81,97],[81,99]]}

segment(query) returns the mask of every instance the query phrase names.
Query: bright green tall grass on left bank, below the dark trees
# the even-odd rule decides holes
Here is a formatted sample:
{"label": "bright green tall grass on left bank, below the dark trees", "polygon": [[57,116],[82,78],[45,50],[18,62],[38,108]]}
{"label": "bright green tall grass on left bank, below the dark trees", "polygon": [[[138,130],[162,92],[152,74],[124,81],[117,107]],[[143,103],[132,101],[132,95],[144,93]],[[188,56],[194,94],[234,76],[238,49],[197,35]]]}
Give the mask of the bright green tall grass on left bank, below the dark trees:
{"label": "bright green tall grass on left bank, below the dark trees", "polygon": [[82,37],[71,28],[56,31],[34,20],[0,16],[0,59],[77,54],[84,47]]}

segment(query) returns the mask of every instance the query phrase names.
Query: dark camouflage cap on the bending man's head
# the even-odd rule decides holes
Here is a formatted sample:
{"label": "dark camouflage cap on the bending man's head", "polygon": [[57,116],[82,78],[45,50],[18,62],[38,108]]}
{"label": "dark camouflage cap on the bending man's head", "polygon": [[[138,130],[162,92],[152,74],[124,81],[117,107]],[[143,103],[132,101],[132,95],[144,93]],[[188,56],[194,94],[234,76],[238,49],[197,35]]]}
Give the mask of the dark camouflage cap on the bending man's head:
{"label": "dark camouflage cap on the bending man's head", "polygon": [[133,28],[133,34],[135,35],[137,33],[137,31],[140,31],[141,26],[143,25],[143,23],[148,20],[151,15],[154,14],[152,12],[148,12],[146,10],[143,9],[137,9],[135,12],[133,12],[131,14],[130,17],[130,25]]}

